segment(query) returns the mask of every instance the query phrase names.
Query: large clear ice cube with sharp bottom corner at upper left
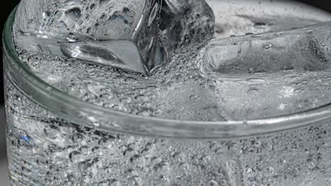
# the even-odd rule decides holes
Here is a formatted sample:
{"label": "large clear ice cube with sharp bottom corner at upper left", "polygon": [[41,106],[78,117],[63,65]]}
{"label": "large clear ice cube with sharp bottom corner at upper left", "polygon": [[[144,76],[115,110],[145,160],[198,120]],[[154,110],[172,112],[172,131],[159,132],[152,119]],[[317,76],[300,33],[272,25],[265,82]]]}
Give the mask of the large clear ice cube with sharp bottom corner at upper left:
{"label": "large clear ice cube with sharp bottom corner at upper left", "polygon": [[163,61],[158,41],[161,0],[23,0],[16,44],[146,73]]}

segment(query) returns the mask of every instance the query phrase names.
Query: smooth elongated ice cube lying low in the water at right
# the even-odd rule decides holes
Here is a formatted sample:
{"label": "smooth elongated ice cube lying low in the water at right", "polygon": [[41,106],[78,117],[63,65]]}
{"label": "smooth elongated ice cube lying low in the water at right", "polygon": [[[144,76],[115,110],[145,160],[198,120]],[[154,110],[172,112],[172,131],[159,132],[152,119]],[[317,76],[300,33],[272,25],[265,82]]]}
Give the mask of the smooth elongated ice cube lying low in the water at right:
{"label": "smooth elongated ice cube lying low in the water at right", "polygon": [[209,42],[205,60],[219,73],[265,73],[330,68],[331,22],[285,32]]}

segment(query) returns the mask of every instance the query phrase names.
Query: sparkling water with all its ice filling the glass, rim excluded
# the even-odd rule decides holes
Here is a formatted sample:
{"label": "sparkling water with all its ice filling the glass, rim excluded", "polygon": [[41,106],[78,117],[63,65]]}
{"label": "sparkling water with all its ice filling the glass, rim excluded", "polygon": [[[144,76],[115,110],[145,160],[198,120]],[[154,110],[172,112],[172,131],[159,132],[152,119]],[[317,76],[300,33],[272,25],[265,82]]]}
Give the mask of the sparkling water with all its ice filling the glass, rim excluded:
{"label": "sparkling water with all its ice filling the glass, rim excluded", "polygon": [[[18,56],[49,85],[91,104],[156,118],[231,121],[331,101],[331,23],[314,25],[331,16],[302,4],[44,0],[29,12],[31,2],[18,8]],[[137,25],[144,29],[132,33]],[[139,45],[135,35],[146,34],[149,44]],[[330,120],[236,140],[122,135],[47,111],[5,79],[12,185],[331,184]]]}

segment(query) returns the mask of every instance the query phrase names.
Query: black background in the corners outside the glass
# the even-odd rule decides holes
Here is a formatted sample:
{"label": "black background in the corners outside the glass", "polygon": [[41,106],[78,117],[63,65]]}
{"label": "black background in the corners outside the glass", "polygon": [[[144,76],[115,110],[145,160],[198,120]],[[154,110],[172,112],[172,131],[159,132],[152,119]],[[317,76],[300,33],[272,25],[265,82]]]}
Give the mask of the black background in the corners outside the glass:
{"label": "black background in the corners outside the glass", "polygon": [[[35,0],[38,1],[38,0]],[[236,0],[233,0],[236,1]],[[319,8],[322,8],[326,11],[331,12],[331,0],[299,0],[303,3],[310,4]],[[1,27],[1,33],[2,33],[2,28],[4,23],[6,22],[6,18],[11,13],[11,10],[18,4],[19,0],[8,0],[6,1],[6,5],[2,4],[1,6],[1,11],[0,11],[0,16],[1,16],[1,22],[0,22],[0,27]],[[2,47],[2,37],[1,37],[1,47]],[[2,50],[1,50],[2,51]],[[0,68],[2,69],[2,61],[0,63]],[[0,70],[0,104],[3,103],[4,101],[4,88],[2,85],[2,70]]]}

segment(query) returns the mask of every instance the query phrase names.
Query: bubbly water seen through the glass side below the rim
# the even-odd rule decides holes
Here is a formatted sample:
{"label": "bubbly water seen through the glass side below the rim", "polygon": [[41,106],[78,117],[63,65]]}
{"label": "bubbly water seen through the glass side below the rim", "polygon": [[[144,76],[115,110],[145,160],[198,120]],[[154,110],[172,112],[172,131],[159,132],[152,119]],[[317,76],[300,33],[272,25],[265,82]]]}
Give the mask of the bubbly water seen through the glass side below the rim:
{"label": "bubbly water seen through the glass side below the rim", "polygon": [[331,123],[238,140],[175,140],[83,128],[6,78],[11,185],[325,186]]}

